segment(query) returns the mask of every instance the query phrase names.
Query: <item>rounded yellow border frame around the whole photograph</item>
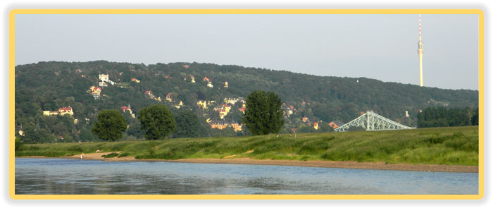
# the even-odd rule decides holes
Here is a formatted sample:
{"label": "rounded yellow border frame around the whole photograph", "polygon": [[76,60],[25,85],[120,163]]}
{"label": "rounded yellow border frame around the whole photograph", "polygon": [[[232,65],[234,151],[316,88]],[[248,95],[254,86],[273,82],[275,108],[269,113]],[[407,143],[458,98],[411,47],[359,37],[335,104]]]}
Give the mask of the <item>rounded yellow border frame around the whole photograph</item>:
{"label": "rounded yellow border frame around the whole photograph", "polygon": [[[17,14],[477,14],[479,15],[478,195],[15,195],[15,15]],[[480,200],[485,194],[485,15],[480,9],[13,9],[9,14],[9,195],[13,200]]]}

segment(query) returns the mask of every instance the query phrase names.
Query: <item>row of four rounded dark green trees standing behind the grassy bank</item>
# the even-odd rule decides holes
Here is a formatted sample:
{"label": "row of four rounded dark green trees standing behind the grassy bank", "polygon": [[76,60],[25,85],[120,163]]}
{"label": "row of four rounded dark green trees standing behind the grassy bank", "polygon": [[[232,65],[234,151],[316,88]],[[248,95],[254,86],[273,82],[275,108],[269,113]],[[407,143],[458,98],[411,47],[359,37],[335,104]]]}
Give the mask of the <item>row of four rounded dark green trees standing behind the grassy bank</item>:
{"label": "row of four rounded dark green trees standing behind the grassy bank", "polygon": [[[252,135],[279,133],[284,124],[281,104],[281,99],[274,92],[254,91],[246,98],[243,123]],[[146,140],[163,140],[174,132],[182,137],[198,136],[199,125],[192,111],[182,111],[175,119],[165,105],[156,104],[140,110],[137,118]],[[127,121],[120,112],[103,110],[99,112],[91,131],[101,140],[116,142],[123,137],[127,128]]]}

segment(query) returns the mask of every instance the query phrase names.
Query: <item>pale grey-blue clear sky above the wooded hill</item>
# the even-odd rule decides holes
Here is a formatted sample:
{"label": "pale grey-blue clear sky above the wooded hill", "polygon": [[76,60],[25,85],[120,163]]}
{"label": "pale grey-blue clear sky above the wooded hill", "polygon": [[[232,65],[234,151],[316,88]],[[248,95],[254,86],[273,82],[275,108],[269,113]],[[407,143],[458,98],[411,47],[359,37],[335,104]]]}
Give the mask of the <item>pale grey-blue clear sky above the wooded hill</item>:
{"label": "pale grey-blue clear sky above the wooded hill", "polygon": [[[423,85],[478,90],[478,15],[423,14]],[[419,84],[416,15],[16,15],[15,65],[198,62]]]}

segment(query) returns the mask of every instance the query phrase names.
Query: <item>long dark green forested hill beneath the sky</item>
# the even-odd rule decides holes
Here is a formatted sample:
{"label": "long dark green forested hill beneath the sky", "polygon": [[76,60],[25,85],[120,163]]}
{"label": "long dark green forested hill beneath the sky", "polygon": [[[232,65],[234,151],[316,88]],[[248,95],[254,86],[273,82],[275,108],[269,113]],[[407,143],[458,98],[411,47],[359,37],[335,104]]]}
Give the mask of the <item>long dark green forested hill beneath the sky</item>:
{"label": "long dark green forested hill beneath the sky", "polygon": [[[116,83],[101,87],[101,97],[94,99],[89,89],[98,86],[100,74],[108,74],[109,80]],[[132,81],[132,78],[136,80]],[[207,79],[213,87],[208,86]],[[241,104],[235,104],[232,107],[235,111],[220,119],[211,110],[214,106],[208,110],[199,108],[199,100],[216,101],[218,104],[225,98],[246,97],[254,90],[273,91],[280,95],[286,109],[292,109],[293,114],[286,118],[284,129],[287,130],[307,126],[306,121],[301,121],[304,117],[311,123],[345,123],[369,110],[405,125],[416,126],[416,115],[420,109],[428,106],[475,107],[478,106],[479,95],[475,90],[443,90],[368,78],[321,77],[212,63],[144,65],[108,61],[50,61],[15,66],[15,123],[16,128],[32,124],[43,128],[43,125],[40,126],[43,122],[42,111],[56,111],[70,106],[74,118],[90,121],[74,126],[80,130],[89,128],[84,125],[90,126],[96,112],[101,109],[120,110],[121,106],[130,104],[135,114],[145,106],[161,103],[168,105],[173,114],[183,109],[193,109],[202,126],[207,128],[202,121],[206,117],[214,121],[240,121],[242,114],[238,108]],[[147,91],[151,91],[155,99],[149,98]],[[165,99],[169,93],[173,102]],[[158,97],[162,100],[158,101]],[[183,102],[180,109],[173,107],[180,101]]]}

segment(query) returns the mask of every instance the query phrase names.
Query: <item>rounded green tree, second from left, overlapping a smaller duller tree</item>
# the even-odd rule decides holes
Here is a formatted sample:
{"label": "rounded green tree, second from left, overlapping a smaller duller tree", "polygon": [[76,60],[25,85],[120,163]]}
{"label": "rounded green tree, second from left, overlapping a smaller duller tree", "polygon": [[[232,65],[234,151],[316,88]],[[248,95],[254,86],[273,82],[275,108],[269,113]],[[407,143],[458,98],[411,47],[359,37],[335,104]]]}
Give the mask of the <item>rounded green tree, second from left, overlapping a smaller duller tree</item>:
{"label": "rounded green tree, second from left, overlapping a smaller duller tree", "polygon": [[176,129],[175,117],[162,104],[146,107],[139,111],[137,118],[147,140],[161,140]]}

